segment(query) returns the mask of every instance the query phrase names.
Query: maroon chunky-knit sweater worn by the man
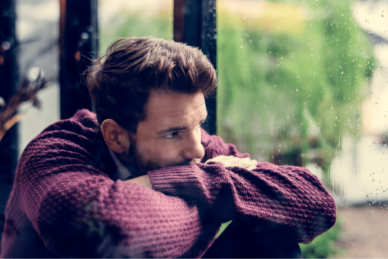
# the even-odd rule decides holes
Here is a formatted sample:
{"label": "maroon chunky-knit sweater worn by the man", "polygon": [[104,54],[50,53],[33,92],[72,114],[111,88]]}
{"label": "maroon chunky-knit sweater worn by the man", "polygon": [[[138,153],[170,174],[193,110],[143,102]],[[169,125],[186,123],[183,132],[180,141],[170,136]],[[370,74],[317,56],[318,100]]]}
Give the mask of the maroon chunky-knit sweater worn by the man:
{"label": "maroon chunky-knit sweater worn by the man", "polygon": [[[333,197],[301,167],[211,162],[149,171],[152,189],[124,183],[96,128],[95,114],[81,110],[28,144],[5,211],[2,258],[179,257],[230,220],[308,243],[336,221]],[[248,156],[203,130],[201,142],[204,160]]]}

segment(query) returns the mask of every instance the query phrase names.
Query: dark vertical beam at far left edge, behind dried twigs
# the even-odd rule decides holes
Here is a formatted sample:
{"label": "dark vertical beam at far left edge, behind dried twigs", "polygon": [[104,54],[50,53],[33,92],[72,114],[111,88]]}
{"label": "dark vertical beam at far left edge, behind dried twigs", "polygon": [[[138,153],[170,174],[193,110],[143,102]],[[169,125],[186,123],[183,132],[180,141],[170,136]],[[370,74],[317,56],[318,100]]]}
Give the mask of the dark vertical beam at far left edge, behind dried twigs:
{"label": "dark vertical beam at far left edge, behind dried twigs", "polygon": [[[16,93],[18,80],[15,2],[0,1],[0,96],[5,102]],[[17,124],[10,128],[0,141],[0,238],[4,228],[5,205],[12,188],[16,164]]]}

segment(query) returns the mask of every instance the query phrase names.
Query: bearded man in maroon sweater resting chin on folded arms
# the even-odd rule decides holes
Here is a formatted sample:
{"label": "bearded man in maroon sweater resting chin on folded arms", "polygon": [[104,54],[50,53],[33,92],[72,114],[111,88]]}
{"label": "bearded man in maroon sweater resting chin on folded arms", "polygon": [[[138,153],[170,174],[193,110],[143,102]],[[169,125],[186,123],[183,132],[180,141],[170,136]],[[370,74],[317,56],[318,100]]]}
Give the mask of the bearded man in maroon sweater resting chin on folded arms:
{"label": "bearded man in maroon sweater resting chin on folded arms", "polygon": [[201,129],[217,80],[198,49],[123,38],[87,73],[97,115],[78,111],[26,147],[1,257],[200,257],[223,222],[288,243],[335,223],[307,169],[256,162]]}

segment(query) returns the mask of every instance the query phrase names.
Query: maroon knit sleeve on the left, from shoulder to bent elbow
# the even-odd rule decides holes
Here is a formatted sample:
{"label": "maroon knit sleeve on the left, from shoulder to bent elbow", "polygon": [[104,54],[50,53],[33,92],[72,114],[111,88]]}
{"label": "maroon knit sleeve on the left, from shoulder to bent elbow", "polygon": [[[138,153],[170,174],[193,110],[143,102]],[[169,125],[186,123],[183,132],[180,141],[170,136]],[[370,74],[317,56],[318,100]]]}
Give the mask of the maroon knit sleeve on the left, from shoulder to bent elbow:
{"label": "maroon knit sleeve on the left, from shoulder to bent elbow", "polygon": [[93,165],[96,147],[76,133],[80,125],[61,128],[28,145],[14,185],[49,250],[59,257],[172,258],[196,243],[202,224],[194,202],[111,180]]}

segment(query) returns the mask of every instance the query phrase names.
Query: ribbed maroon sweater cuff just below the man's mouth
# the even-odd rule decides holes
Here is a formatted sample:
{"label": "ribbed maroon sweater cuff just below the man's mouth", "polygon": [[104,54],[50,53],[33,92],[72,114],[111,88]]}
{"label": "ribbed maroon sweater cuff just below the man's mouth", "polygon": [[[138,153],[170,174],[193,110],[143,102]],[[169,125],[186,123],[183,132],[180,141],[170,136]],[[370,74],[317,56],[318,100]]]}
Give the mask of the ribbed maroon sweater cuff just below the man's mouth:
{"label": "ribbed maroon sweater cuff just below the man's mouth", "polygon": [[[201,184],[198,179],[199,167],[195,164],[189,166],[172,166],[148,171],[152,189],[167,195],[198,198],[201,196]],[[196,193],[196,195],[194,194]],[[194,197],[193,197],[194,196]]]}

